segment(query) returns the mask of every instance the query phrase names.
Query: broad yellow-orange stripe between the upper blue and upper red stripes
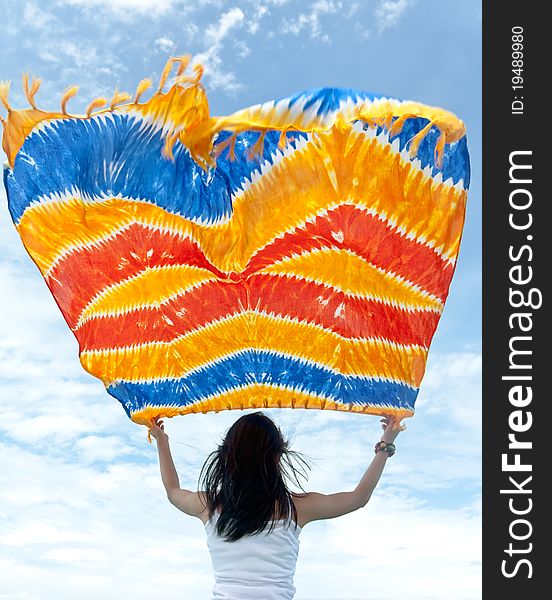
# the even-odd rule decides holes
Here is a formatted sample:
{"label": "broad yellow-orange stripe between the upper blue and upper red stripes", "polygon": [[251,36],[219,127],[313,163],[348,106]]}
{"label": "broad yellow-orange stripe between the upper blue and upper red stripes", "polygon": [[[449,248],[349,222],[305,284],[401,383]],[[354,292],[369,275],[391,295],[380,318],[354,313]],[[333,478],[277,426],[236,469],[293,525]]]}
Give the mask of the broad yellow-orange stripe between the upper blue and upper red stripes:
{"label": "broad yellow-orange stripe between the upper blue and upper red stripes", "polygon": [[[357,136],[358,147],[343,158],[349,135]],[[313,146],[285,157],[235,198],[232,218],[220,225],[199,225],[131,200],[85,204],[72,199],[29,207],[18,230],[43,272],[72,246],[101,240],[136,220],[191,235],[217,268],[242,271],[254,253],[284,232],[342,202],[354,202],[385,215],[447,257],[456,256],[465,191],[436,184],[389,146],[354,131],[320,134],[319,146]],[[328,170],[326,159],[335,172]]]}

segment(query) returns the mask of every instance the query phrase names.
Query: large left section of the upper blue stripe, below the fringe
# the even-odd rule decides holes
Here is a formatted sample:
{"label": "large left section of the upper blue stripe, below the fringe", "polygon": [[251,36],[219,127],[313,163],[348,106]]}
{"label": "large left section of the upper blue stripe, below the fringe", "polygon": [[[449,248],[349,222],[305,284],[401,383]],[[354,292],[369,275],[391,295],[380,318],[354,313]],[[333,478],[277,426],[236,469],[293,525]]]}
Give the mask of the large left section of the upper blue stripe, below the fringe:
{"label": "large left section of the upper blue stripe, below the fringe", "polygon": [[[73,185],[91,196],[142,198],[188,219],[230,214],[225,172],[205,172],[180,143],[174,148],[174,162],[164,158],[161,132],[139,132],[140,123],[128,115],[114,114],[113,121],[64,120],[55,123],[54,130],[31,134],[7,177],[14,221],[17,223],[41,194],[64,192]],[[112,162],[118,170],[121,158],[125,162],[118,174],[111,176],[104,170],[104,163]]]}

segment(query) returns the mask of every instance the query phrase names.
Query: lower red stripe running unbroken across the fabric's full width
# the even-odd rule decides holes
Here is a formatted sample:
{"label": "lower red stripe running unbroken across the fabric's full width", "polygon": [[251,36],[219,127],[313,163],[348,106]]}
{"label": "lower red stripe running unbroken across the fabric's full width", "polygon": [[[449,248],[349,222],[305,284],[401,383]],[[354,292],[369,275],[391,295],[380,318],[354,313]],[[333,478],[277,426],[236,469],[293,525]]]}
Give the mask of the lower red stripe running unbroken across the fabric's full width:
{"label": "lower red stripe running unbroken across the fabric's full width", "polygon": [[[313,322],[348,338],[378,337],[428,347],[439,321],[430,311],[406,311],[374,300],[332,292],[327,287],[276,275],[253,275],[247,282],[208,282],[173,298],[163,308],[144,308],[119,317],[95,317],[76,335],[83,350],[115,348],[176,337],[241,312],[287,315]],[[343,308],[336,313],[340,304]],[[164,319],[167,317],[172,322]]]}

